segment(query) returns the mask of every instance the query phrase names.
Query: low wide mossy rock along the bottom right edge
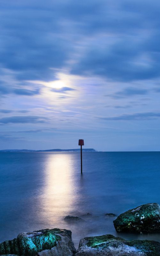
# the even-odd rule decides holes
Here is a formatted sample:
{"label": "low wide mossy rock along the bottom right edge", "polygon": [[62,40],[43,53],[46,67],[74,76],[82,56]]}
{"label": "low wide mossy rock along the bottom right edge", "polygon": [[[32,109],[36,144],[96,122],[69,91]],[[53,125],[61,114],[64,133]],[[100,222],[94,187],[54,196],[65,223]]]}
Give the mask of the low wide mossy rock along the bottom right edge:
{"label": "low wide mossy rock along the bottom right edge", "polygon": [[85,237],[75,256],[159,256],[160,243],[149,240],[127,241],[113,235]]}

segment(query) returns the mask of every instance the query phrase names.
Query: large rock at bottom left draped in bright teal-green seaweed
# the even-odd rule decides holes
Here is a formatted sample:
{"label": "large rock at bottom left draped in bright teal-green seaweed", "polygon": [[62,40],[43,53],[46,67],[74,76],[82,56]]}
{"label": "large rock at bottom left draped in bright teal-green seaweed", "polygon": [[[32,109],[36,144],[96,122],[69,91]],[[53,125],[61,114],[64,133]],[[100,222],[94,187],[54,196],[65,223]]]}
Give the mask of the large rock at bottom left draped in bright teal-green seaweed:
{"label": "large rock at bottom left draped in bright teal-green seaweed", "polygon": [[71,234],[69,230],[58,228],[21,233],[11,241],[0,243],[0,255],[73,256],[76,249]]}

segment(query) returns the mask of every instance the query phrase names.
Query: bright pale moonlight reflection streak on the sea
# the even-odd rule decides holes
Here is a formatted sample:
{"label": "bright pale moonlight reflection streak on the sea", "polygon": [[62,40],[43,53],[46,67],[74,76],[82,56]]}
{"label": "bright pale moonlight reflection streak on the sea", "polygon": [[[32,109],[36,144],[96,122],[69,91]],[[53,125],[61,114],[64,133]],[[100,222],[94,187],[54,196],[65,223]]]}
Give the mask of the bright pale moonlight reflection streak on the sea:
{"label": "bright pale moonlight reflection streak on the sea", "polygon": [[[74,159],[71,154],[48,154],[44,170],[42,193],[42,218],[54,223],[60,216],[68,215],[74,201]],[[59,219],[60,221],[60,219]]]}

